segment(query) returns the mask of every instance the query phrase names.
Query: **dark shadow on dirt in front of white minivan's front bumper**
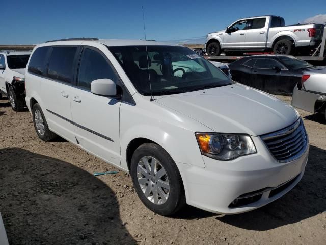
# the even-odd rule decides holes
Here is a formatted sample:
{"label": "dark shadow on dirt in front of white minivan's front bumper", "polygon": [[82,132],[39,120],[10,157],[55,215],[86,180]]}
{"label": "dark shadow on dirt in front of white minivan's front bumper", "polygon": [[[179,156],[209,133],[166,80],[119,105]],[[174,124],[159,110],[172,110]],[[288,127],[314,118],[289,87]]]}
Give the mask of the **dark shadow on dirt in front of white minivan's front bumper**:
{"label": "dark shadow on dirt in front of white minivan's front bumper", "polygon": [[300,222],[326,210],[326,151],[310,146],[308,165],[300,183],[284,197],[254,211],[216,218],[248,230],[265,231]]}

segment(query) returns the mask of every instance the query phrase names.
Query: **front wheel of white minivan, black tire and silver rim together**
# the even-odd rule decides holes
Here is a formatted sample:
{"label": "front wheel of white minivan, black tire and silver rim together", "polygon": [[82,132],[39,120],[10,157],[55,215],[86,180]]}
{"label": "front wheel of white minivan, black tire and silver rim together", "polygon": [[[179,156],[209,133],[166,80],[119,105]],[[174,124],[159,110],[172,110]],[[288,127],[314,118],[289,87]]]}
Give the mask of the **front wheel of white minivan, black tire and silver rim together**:
{"label": "front wheel of white minivan, black tire and silver rim together", "polygon": [[170,216],[185,206],[179,170],[161,146],[139,146],[131,158],[130,174],[138,197],[153,212]]}

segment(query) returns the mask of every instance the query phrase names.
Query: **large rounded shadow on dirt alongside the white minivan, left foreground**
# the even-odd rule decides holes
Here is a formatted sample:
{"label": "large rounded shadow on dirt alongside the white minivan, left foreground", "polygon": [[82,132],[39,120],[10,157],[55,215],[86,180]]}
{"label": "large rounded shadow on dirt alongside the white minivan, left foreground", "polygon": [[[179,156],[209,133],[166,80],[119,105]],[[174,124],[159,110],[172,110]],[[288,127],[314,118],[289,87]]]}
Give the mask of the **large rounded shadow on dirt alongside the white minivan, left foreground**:
{"label": "large rounded shadow on dirt alongside the white minivan, left foreground", "polygon": [[10,244],[136,244],[115,193],[67,162],[0,149],[0,210]]}

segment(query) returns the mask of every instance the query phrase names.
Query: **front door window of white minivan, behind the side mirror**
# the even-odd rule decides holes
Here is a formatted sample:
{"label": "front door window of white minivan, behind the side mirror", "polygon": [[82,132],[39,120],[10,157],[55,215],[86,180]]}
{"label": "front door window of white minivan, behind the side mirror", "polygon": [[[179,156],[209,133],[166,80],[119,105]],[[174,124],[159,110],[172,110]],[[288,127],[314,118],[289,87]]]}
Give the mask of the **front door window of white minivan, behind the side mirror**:
{"label": "front door window of white minivan, behind the side mirror", "polygon": [[97,51],[84,48],[80,57],[77,86],[91,89],[91,82],[96,79],[108,78],[117,83],[118,77],[111,65]]}

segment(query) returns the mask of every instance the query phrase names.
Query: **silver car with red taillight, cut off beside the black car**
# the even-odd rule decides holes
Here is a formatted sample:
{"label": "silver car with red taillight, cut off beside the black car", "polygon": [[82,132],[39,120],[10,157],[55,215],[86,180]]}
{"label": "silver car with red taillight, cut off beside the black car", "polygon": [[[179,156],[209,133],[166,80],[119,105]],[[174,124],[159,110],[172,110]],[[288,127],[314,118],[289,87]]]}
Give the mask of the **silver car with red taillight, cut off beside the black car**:
{"label": "silver car with red taillight, cut off beside the black car", "polygon": [[326,67],[314,68],[304,72],[301,83],[293,89],[292,106],[321,113],[326,120]]}

